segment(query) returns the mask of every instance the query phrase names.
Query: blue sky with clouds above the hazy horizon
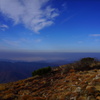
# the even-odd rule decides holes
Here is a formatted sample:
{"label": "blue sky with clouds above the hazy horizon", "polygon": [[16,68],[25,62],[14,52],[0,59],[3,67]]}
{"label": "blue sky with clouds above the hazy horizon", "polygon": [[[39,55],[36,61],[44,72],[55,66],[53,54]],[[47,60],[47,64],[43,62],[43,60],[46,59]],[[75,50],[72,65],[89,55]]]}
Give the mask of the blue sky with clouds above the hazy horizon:
{"label": "blue sky with clouds above the hazy horizon", "polygon": [[100,52],[100,1],[0,0],[0,51]]}

